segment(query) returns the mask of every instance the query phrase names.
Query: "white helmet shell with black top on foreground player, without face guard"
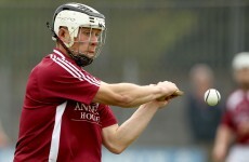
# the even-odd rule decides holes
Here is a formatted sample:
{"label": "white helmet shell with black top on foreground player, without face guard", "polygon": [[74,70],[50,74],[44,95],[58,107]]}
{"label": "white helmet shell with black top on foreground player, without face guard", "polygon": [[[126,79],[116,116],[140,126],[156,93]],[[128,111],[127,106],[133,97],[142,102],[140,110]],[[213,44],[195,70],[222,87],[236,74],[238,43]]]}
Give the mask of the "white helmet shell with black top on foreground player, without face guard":
{"label": "white helmet shell with black top on foreground player, without face guard", "polygon": [[[104,31],[105,16],[91,6],[70,2],[58,6],[53,15],[53,29],[56,35],[58,35],[58,29],[62,26],[67,27],[70,40],[74,40],[80,27],[96,28]],[[53,40],[55,39],[53,38]],[[103,43],[104,39],[101,41]],[[74,41],[66,45],[69,48],[73,44]]]}

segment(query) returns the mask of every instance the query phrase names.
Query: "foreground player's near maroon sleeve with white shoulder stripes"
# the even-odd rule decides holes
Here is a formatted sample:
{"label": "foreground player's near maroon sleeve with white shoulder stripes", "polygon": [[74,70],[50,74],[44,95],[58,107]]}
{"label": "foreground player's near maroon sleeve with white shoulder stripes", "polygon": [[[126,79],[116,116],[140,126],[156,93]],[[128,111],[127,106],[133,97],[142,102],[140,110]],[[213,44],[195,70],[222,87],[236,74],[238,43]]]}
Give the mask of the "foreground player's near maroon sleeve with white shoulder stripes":
{"label": "foreground player's near maroon sleeve with white shoulder stripes", "polygon": [[100,87],[100,80],[79,68],[60,66],[52,63],[37,70],[38,87],[41,98],[71,99],[90,104]]}

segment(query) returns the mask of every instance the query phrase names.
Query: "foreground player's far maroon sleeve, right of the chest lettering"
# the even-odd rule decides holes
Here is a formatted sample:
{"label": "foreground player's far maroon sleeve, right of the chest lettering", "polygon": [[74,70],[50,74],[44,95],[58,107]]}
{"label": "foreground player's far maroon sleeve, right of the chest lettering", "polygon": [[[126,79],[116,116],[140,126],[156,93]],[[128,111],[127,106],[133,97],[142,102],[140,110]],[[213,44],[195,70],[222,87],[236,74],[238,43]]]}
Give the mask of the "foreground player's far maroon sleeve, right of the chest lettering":
{"label": "foreground player's far maroon sleeve, right of the chest lettering", "polygon": [[101,125],[102,129],[117,124],[117,119],[114,116],[113,110],[107,105],[101,105]]}

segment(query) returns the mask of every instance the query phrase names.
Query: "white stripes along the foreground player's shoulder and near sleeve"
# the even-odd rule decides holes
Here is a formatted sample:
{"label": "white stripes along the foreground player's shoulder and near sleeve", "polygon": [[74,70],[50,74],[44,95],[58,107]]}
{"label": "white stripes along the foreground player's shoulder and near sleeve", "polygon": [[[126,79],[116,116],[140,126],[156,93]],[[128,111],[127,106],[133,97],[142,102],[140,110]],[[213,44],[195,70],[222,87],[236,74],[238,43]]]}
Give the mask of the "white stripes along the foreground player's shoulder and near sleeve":
{"label": "white stripes along the foreground player's shoulder and near sleeve", "polygon": [[[63,55],[62,53],[60,53],[58,51],[56,51],[56,50],[54,50],[54,52],[56,53],[56,54],[60,54],[60,56],[61,55]],[[75,65],[73,65],[70,62],[68,62],[68,60],[66,60],[65,59],[65,56],[63,55],[63,57],[62,58],[60,58],[60,57],[56,57],[55,55],[54,55],[54,57],[56,58],[56,60],[58,60],[61,64],[63,64],[63,68],[65,69],[66,68],[66,70],[70,70],[71,72],[74,72],[75,75],[77,75],[78,77],[76,77],[76,78],[78,78],[79,80],[86,80],[86,81],[88,81],[89,83],[91,83],[91,84],[94,84],[94,85],[96,85],[96,86],[100,86],[100,81],[99,80],[96,80],[94,77],[89,77],[89,76],[86,76],[79,68],[77,68]],[[62,66],[62,65],[61,65]],[[65,67],[66,66],[66,67]],[[74,76],[75,77],[75,76]]]}

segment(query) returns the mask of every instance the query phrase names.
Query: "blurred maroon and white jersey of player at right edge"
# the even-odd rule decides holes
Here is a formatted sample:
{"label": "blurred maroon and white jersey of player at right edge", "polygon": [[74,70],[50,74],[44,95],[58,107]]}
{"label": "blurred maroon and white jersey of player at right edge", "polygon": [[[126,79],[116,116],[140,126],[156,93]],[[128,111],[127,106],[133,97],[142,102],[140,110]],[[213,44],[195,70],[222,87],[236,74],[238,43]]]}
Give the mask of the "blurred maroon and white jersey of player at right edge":
{"label": "blurred maroon and white jersey of player at right edge", "polygon": [[237,90],[227,99],[222,124],[235,133],[237,144],[249,145],[249,134],[238,132],[238,126],[243,122],[249,123],[249,91]]}

